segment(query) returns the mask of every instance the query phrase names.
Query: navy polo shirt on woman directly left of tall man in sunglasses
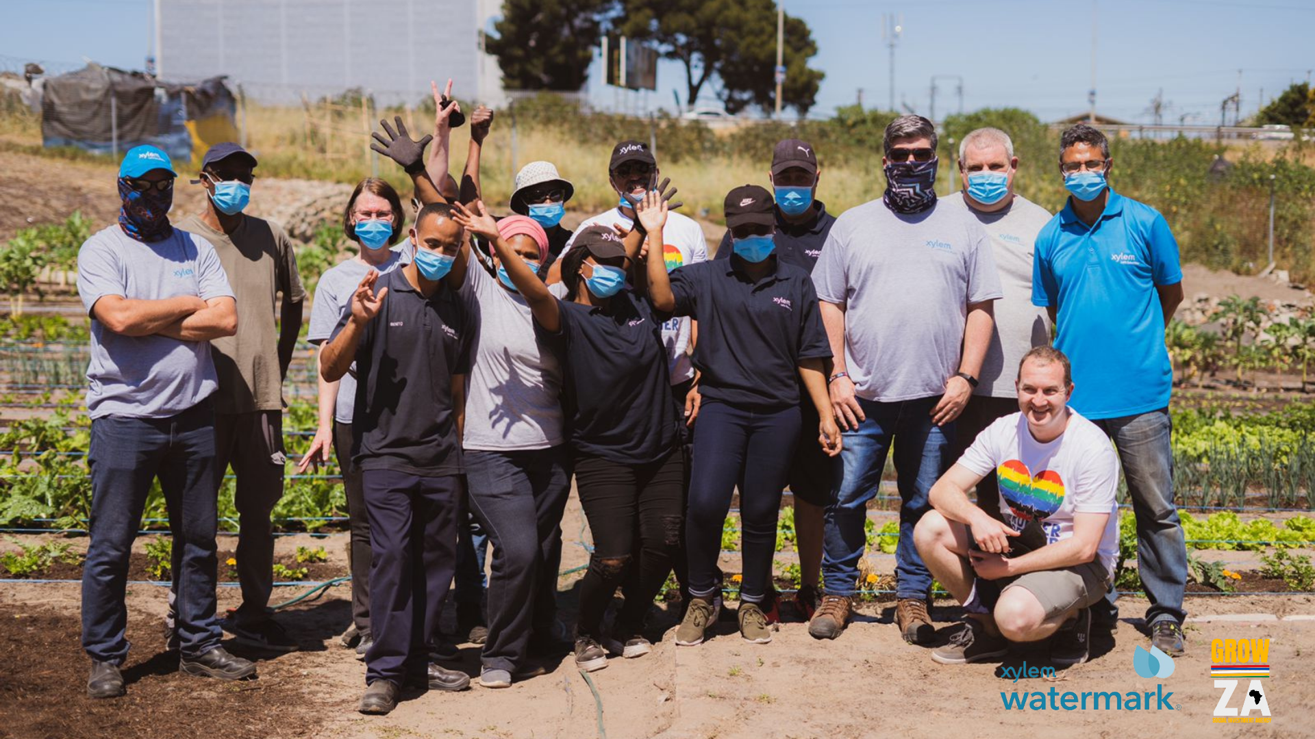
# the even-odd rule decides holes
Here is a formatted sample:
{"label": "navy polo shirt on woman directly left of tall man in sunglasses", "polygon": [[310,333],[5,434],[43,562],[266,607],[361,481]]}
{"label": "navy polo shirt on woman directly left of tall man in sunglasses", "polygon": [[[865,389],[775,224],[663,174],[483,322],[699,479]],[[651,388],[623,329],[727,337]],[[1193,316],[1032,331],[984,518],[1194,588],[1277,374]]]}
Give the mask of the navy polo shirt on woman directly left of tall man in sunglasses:
{"label": "navy polo shirt on woman directly left of tall man in sunglasses", "polygon": [[830,359],[813,277],[780,258],[751,281],[731,256],[671,274],[676,316],[698,321],[694,367],[704,400],[778,410],[800,402],[801,359]]}

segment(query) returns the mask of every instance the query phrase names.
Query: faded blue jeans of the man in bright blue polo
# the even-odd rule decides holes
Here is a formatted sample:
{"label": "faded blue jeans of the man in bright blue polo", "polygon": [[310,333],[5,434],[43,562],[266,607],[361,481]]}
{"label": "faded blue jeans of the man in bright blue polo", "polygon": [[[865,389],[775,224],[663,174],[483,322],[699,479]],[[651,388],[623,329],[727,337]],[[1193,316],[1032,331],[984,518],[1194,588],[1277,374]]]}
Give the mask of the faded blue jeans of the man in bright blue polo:
{"label": "faded blue jeans of the man in bright blue polo", "polygon": [[[1187,546],[1173,501],[1173,447],[1169,409],[1093,421],[1119,450],[1123,477],[1128,481],[1132,513],[1137,518],[1137,575],[1151,608],[1145,622],[1172,619],[1182,623],[1182,593],[1187,586]],[[1112,575],[1112,573],[1111,573]],[[1099,621],[1119,617],[1111,588],[1105,604],[1095,606]]]}

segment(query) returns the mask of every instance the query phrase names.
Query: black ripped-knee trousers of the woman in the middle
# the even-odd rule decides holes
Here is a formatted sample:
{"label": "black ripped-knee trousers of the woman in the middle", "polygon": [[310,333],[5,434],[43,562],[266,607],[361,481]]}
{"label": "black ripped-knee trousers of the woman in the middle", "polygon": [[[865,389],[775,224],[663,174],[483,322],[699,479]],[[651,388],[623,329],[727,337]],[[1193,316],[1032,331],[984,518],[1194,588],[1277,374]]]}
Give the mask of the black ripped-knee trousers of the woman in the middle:
{"label": "black ripped-knee trousers of the woman in the middle", "polygon": [[600,638],[602,617],[625,584],[621,632],[638,631],[681,550],[685,452],[680,446],[647,464],[581,454],[575,459],[580,506],[593,554],[580,589],[577,632]]}

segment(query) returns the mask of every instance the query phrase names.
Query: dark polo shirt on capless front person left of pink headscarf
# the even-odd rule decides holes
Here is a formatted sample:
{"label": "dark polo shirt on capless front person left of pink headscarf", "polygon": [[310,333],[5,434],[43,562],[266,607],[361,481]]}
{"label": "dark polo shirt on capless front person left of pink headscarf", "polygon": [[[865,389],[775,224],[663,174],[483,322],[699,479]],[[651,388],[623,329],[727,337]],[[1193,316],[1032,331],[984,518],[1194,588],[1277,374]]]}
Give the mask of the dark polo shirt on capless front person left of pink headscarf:
{"label": "dark polo shirt on capless front person left of pink headscarf", "polygon": [[[376,292],[385,287],[356,348],[352,463],[425,477],[460,475],[452,376],[471,368],[468,314],[446,285],[425,297],[402,270],[375,283]],[[350,318],[347,308],[334,337]]]}

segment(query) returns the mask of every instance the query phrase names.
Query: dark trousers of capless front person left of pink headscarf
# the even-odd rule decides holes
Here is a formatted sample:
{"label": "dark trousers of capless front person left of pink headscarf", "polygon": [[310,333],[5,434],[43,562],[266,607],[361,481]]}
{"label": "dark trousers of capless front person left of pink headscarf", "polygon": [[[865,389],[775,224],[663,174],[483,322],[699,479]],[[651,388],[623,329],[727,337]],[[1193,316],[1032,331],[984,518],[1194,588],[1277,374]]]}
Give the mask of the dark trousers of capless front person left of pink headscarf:
{"label": "dark trousers of capless front person left of pink headscarf", "polygon": [[438,632],[456,569],[456,513],[460,477],[421,477],[394,469],[362,472],[370,514],[371,630],[366,684],[401,685],[429,665],[430,635]]}

